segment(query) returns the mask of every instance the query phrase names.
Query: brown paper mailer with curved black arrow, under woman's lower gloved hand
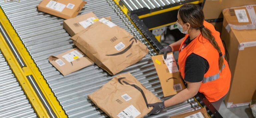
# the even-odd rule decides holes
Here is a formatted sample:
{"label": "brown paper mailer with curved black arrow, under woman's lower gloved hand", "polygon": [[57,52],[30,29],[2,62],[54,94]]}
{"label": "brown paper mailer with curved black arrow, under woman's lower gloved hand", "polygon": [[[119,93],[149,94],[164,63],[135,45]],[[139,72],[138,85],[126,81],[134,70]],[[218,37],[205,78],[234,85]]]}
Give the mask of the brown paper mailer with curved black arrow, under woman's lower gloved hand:
{"label": "brown paper mailer with curved black arrow, under woman's lower gloved hand", "polygon": [[142,118],[153,109],[147,104],[160,102],[130,73],[114,77],[88,98],[111,118]]}

